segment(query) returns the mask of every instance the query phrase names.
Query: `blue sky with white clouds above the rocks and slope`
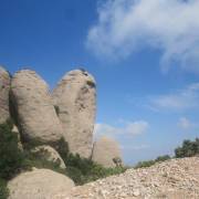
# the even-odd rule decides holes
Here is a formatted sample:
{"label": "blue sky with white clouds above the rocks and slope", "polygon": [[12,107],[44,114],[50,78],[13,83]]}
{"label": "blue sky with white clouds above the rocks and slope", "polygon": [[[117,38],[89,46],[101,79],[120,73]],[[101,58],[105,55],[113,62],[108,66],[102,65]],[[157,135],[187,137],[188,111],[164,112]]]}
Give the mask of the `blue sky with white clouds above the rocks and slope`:
{"label": "blue sky with white clouds above the rocks and slope", "polygon": [[97,136],[135,164],[198,136],[198,0],[0,0],[0,64],[31,67],[51,88],[86,69]]}

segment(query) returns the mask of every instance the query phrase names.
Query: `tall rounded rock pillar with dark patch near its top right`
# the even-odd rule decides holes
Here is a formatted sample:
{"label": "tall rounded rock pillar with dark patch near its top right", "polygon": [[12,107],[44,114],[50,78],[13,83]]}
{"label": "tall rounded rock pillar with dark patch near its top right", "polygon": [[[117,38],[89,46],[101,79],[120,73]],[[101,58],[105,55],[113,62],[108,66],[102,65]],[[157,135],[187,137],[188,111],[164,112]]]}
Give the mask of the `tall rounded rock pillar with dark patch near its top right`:
{"label": "tall rounded rock pillar with dark patch near its top right", "polygon": [[52,96],[70,151],[90,157],[96,109],[93,76],[82,70],[71,71],[60,81]]}

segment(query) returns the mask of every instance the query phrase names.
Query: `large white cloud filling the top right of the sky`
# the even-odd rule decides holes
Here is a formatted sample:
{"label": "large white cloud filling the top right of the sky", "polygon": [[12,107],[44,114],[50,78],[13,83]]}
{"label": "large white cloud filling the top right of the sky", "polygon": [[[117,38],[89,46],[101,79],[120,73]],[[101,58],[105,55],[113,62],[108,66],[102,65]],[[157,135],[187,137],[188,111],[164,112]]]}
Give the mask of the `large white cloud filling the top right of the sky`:
{"label": "large white cloud filling the top right of the sky", "polygon": [[177,61],[199,72],[199,0],[106,0],[97,12],[86,40],[96,55],[126,57],[149,46],[163,52],[165,69]]}

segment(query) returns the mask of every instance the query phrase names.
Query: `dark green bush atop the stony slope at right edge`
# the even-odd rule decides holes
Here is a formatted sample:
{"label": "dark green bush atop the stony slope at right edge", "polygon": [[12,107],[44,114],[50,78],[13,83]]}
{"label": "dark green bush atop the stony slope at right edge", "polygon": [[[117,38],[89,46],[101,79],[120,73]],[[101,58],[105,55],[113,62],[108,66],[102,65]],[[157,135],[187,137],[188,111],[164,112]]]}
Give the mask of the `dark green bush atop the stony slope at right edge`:
{"label": "dark green bush atop the stony slope at right edge", "polygon": [[197,154],[199,154],[199,138],[196,138],[193,142],[186,139],[181,147],[175,149],[176,158],[191,157]]}

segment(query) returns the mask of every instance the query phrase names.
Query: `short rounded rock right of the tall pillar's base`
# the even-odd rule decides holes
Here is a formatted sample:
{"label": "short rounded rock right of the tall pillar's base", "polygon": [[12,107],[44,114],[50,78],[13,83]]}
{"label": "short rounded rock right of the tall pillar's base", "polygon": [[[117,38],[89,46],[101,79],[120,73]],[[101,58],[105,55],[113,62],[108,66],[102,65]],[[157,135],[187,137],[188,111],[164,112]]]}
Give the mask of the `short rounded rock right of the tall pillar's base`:
{"label": "short rounded rock right of the tall pillar's base", "polygon": [[122,159],[118,143],[103,136],[93,145],[92,160],[104,167],[116,167],[115,159]]}

